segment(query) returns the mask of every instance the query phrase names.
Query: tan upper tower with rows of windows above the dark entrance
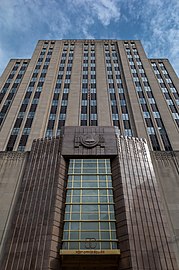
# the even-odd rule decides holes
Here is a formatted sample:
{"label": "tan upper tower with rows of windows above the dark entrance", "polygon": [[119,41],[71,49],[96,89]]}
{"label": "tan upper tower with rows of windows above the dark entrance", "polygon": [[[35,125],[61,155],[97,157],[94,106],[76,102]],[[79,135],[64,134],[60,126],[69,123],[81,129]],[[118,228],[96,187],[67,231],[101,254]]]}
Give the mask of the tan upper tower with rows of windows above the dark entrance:
{"label": "tan upper tower with rows of windows above the dark entrance", "polygon": [[151,150],[179,149],[179,80],[136,40],[40,40],[0,79],[0,150],[26,151],[63,126],[115,126]]}

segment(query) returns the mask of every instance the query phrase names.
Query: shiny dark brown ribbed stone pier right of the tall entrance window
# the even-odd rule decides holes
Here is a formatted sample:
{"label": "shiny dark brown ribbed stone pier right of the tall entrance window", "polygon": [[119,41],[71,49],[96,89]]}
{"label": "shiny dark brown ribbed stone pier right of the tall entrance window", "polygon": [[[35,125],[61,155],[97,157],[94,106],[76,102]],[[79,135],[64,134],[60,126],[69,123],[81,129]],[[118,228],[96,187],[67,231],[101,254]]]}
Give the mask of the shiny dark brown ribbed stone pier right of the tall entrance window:
{"label": "shiny dark brown ribbed stone pier right of the tall entrance window", "polygon": [[116,217],[121,244],[119,269],[176,270],[178,267],[169,245],[168,225],[147,144],[143,139],[120,136],[117,136],[117,142],[118,182],[122,185],[123,202],[119,206],[116,198],[116,213],[121,212],[121,216]]}

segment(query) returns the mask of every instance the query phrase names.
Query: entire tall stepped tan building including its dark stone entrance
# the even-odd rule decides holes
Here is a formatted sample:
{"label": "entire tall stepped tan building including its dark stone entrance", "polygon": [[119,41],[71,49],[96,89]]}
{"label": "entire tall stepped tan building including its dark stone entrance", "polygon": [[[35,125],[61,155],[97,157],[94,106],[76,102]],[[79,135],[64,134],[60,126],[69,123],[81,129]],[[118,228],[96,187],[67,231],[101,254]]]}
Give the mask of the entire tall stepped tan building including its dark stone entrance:
{"label": "entire tall stepped tan building including its dark stone entrance", "polygon": [[179,269],[179,79],[140,41],[39,41],[0,80],[0,262]]}

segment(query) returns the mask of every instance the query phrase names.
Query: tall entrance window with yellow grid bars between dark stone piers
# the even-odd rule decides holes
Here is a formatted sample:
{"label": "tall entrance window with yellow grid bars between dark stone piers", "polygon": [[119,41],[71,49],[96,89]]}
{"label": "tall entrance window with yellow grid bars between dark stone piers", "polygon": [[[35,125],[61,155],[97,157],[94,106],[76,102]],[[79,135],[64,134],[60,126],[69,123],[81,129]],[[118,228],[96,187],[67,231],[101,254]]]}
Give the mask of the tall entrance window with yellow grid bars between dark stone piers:
{"label": "tall entrance window with yellow grid bars between dark stone piers", "polygon": [[110,160],[71,159],[62,249],[117,249]]}

